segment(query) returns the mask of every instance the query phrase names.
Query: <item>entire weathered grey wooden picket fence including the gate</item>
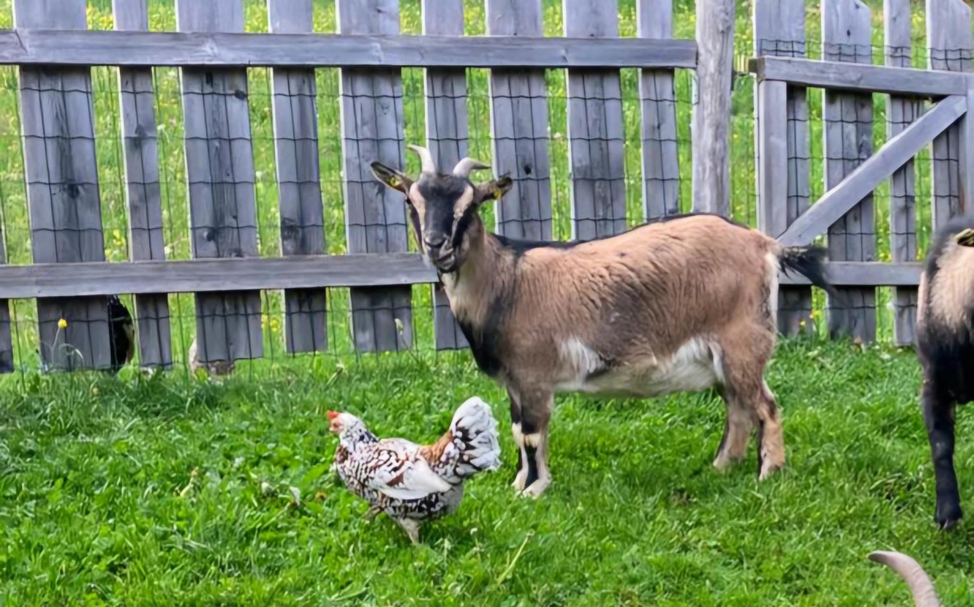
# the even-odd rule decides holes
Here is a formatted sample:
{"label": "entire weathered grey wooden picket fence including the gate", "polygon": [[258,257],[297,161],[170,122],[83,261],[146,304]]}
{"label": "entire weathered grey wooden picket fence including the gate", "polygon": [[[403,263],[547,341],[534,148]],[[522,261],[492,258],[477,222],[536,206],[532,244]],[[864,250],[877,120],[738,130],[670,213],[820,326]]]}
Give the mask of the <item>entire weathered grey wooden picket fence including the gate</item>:
{"label": "entire weathered grey wooden picket fence including the gate", "polygon": [[[711,0],[698,2],[698,11],[706,10]],[[573,237],[581,239],[621,232],[631,219],[624,204],[619,70],[638,68],[643,218],[679,212],[680,180],[689,175],[680,175],[677,157],[674,70],[696,68],[698,50],[693,40],[672,38],[670,0],[637,0],[634,38],[618,37],[613,0],[564,0],[564,37],[543,36],[542,0],[485,0],[488,35],[479,37],[463,35],[463,0],[424,0],[422,36],[399,35],[397,0],[336,3],[340,33],[325,35],[312,33],[311,0],[268,0],[267,33],[244,33],[242,0],[176,0],[172,32],[148,30],[146,0],[113,0],[115,31],[86,29],[85,0],[14,1],[15,29],[0,31],[0,64],[19,66],[33,264],[3,266],[0,247],[0,370],[14,368],[8,300],[21,298],[37,300],[41,343],[59,336],[80,354],[72,358],[41,347],[51,368],[78,361],[98,369],[110,365],[106,297],[112,294],[135,296],[139,360],[147,367],[172,364],[171,293],[196,294],[203,361],[262,356],[263,290],[284,292],[288,352],[329,347],[328,287],[351,288],[357,350],[411,347],[410,285],[435,283],[436,276],[408,252],[401,196],[375,183],[368,168],[372,161],[405,161],[403,67],[426,70],[427,145],[443,166],[468,155],[465,69],[490,69],[493,168],[514,180],[497,205],[497,230],[528,238],[552,237],[544,70],[567,70],[571,225]],[[713,0],[715,10],[718,5],[732,3]],[[908,342],[919,273],[913,157],[933,140],[935,222],[965,204],[970,208],[967,198],[974,193],[968,187],[974,154],[967,153],[974,143],[965,118],[974,97],[969,76],[958,73],[970,66],[969,9],[961,0],[927,1],[930,69],[920,70],[904,67],[910,61],[908,0],[885,3],[887,46],[896,50],[887,54],[889,67],[873,65],[865,53],[872,50],[872,24],[861,2],[822,0],[824,60],[806,58],[803,0],[756,0],[754,6],[760,227],[793,244],[828,232],[830,271],[841,289],[841,297],[829,302],[831,327],[873,339],[876,287],[895,286],[896,336]],[[732,22],[731,15],[731,32],[722,34],[727,40]],[[727,19],[706,23],[715,31],[727,28]],[[730,65],[721,70],[730,52],[706,46],[713,52],[700,47],[697,96],[707,103],[694,117],[697,143],[701,132],[709,132],[703,129],[723,126],[726,135],[727,125],[717,120],[722,113],[730,120]],[[119,68],[128,262],[105,262],[93,65]],[[167,260],[163,244],[154,66],[181,72],[192,260]],[[276,258],[258,254],[246,77],[252,66],[273,72],[282,255]],[[325,255],[322,236],[322,209],[336,202],[322,199],[320,186],[318,67],[341,70],[347,255]],[[803,122],[808,88],[826,89],[829,190],[814,205]],[[888,112],[896,121],[889,142],[871,155],[866,132],[872,128],[873,91],[889,93]],[[925,98],[937,104],[922,113]],[[718,145],[720,138],[706,141],[714,145],[694,146],[694,197],[700,203],[693,207],[727,212],[727,150]],[[871,193],[890,174],[893,262],[880,264]],[[713,188],[705,188],[708,175],[714,176]],[[782,276],[782,284],[781,328],[796,333],[811,310],[810,290],[793,276]],[[438,290],[432,313],[436,347],[464,347]],[[58,328],[62,318],[65,329]]]}

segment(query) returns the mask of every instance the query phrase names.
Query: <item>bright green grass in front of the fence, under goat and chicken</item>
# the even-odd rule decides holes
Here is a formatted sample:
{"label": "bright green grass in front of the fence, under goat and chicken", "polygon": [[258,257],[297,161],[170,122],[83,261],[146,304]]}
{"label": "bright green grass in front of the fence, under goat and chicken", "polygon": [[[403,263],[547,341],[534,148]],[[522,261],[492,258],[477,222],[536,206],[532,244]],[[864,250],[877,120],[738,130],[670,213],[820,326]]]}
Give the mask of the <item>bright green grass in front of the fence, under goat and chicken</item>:
{"label": "bright green grass in front of the fence, under goat and chicken", "polygon": [[[513,495],[504,467],[413,547],[328,471],[324,411],[430,441],[470,395],[502,391],[467,356],[331,360],[290,377],[29,375],[0,385],[0,597],[10,605],[907,605],[866,559],[911,553],[946,605],[974,605],[974,530],[932,522],[933,475],[909,352],[781,344],[768,383],[787,468],[753,446],[711,467],[712,394],[559,400],[554,483]],[[974,485],[961,411],[960,483]],[[195,480],[193,471],[198,471]],[[263,495],[262,483],[274,487]],[[188,486],[188,488],[187,488]],[[301,507],[289,506],[297,487]],[[971,493],[965,505],[971,511]]]}

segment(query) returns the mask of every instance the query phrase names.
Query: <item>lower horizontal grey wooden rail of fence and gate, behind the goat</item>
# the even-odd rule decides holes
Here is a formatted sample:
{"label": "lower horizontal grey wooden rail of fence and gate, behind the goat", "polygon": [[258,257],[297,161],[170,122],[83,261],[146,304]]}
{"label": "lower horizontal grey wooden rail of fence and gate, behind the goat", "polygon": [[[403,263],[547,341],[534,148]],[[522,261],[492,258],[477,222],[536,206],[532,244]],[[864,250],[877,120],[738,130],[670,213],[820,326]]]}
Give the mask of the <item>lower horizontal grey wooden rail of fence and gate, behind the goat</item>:
{"label": "lower horizontal grey wooden rail of fence and gate, behind the goat", "polygon": [[[916,286],[919,271],[917,262],[827,265],[828,278],[837,286]],[[394,287],[437,280],[435,270],[416,253],[0,266],[0,292],[11,300],[112,293]],[[808,284],[804,277],[784,272],[780,282]]]}

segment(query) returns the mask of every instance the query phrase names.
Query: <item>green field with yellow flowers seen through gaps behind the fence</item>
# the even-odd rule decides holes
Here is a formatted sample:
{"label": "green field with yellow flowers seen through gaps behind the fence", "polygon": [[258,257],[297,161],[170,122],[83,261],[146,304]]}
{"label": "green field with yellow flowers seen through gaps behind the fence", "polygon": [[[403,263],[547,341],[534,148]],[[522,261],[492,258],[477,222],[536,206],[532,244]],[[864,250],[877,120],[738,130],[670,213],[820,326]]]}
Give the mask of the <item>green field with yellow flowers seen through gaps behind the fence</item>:
{"label": "green field with yellow flowers seen through gaps behind the fence", "polygon": [[[244,0],[246,30],[267,31],[267,10],[263,0]],[[881,3],[872,2],[874,12],[874,60],[882,61]],[[634,0],[619,0],[619,31],[622,36],[636,33]],[[175,29],[174,3],[149,0],[150,27],[154,30]],[[466,0],[467,33],[484,33],[484,9],[481,0]],[[674,34],[693,38],[693,3],[674,3]],[[921,5],[914,18],[914,62],[925,64],[924,25]],[[402,0],[401,25],[404,33],[419,34],[422,31],[419,0]],[[751,51],[750,2],[740,2],[735,31],[736,53],[740,57]],[[807,10],[807,37],[809,54],[820,52],[819,15],[817,5],[810,3]],[[0,27],[13,23],[11,0],[0,0]],[[334,3],[330,0],[315,2],[315,30],[336,30]],[[89,24],[95,29],[112,27],[109,0],[89,2]],[[557,36],[562,32],[561,2],[544,0],[544,30],[546,35]],[[470,154],[481,161],[491,161],[490,113],[487,88],[488,70],[468,70],[468,110]],[[566,92],[564,70],[547,70],[547,89],[550,114],[550,155],[552,177],[552,205],[554,235],[567,239],[571,233],[568,140],[566,136]],[[639,90],[638,73],[635,69],[622,70],[622,107],[625,127],[626,206],[629,223],[641,221],[641,161],[639,141]],[[23,161],[20,149],[17,69],[0,68],[0,141],[7,154],[0,157],[0,215],[6,235],[9,263],[29,264],[31,261],[30,232],[23,183]],[[189,207],[185,182],[185,159],[182,148],[182,108],[179,94],[178,70],[155,70],[156,111],[159,123],[161,179],[163,181],[163,211],[166,254],[169,259],[188,259]],[[118,74],[116,68],[93,69],[94,125],[97,137],[96,155],[101,189],[102,222],[104,226],[105,257],[109,261],[128,259],[127,216],[125,209],[124,175],[122,170],[122,145],[119,124]],[[261,255],[280,255],[280,229],[278,192],[275,182],[273,123],[271,114],[270,70],[249,69],[249,105],[253,135],[253,152],[256,168],[256,200]],[[681,204],[689,209],[691,201],[691,133],[690,117],[693,105],[693,73],[678,70],[676,78],[677,111],[679,125],[679,150],[681,174]],[[321,186],[325,209],[325,237],[329,253],[342,254],[346,250],[344,202],[341,187],[341,138],[339,122],[339,71],[335,68],[318,69],[318,135],[321,164]],[[423,70],[403,70],[404,119],[407,142],[425,140],[423,105]],[[812,198],[820,196],[823,186],[821,91],[809,90],[812,156]],[[731,180],[732,214],[738,221],[754,225],[755,210],[755,152],[753,118],[753,80],[740,74],[734,80],[732,128],[731,128]],[[885,140],[885,97],[876,95],[875,147]],[[928,237],[927,226],[930,200],[930,166],[928,153],[923,152],[917,162],[918,221],[921,246]],[[409,170],[418,170],[418,162],[407,155]],[[880,259],[888,259],[888,187],[883,185],[877,194],[877,225],[879,231]],[[488,223],[493,223],[492,209],[485,209]],[[885,309],[889,302],[886,289],[880,289],[880,338],[887,339],[891,332],[890,312]],[[415,313],[414,335],[420,349],[432,347],[431,289],[421,285],[413,289]],[[173,349],[177,360],[183,360],[185,350],[196,330],[194,302],[190,295],[170,296],[170,312],[173,315]],[[815,315],[821,315],[822,302],[817,298]],[[265,357],[272,361],[287,358],[283,352],[281,292],[264,294]],[[131,302],[130,302],[131,303]],[[328,298],[329,341],[332,352],[352,351],[350,339],[348,293],[344,289],[331,289]],[[23,369],[36,367],[37,333],[35,304],[21,300],[12,304],[15,320],[16,361]],[[303,359],[302,359],[303,361]],[[257,363],[261,365],[261,363]],[[301,362],[300,364],[304,364]]]}

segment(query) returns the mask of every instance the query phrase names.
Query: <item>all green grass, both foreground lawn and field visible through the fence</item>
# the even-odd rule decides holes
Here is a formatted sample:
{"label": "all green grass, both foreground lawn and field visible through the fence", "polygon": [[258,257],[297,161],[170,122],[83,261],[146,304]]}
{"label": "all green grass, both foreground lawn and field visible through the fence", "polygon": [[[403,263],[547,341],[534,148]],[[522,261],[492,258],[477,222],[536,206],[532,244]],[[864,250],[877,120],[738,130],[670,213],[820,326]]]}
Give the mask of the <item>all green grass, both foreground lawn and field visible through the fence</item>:
{"label": "all green grass, both foreground lawn and field visible through the fence", "polygon": [[[693,3],[674,3],[675,35],[693,37]],[[816,50],[818,13],[808,3]],[[874,14],[881,46],[880,2]],[[420,31],[419,0],[402,1],[402,28]],[[9,27],[11,0],[0,0]],[[266,31],[264,3],[245,0],[248,31]],[[913,26],[925,46],[919,4]],[[483,33],[481,0],[465,0],[467,33]],[[740,2],[738,54],[750,54],[751,3]],[[620,33],[635,33],[635,2],[619,0]],[[110,2],[92,0],[92,27],[111,27]],[[150,0],[153,29],[174,29],[173,4]],[[559,35],[561,2],[544,0],[546,35]],[[334,3],[316,0],[315,29],[335,30]],[[813,51],[814,54],[814,51]],[[875,60],[881,61],[877,52]],[[915,63],[922,65],[922,53]],[[318,70],[318,133],[329,253],[345,252],[338,70]],[[470,150],[491,161],[487,70],[468,70]],[[423,73],[403,71],[406,138],[423,141]],[[190,255],[178,71],[155,70],[167,255]],[[640,219],[639,93],[622,70],[630,223]],[[752,81],[737,79],[731,135],[732,213],[754,224]],[[556,237],[570,233],[565,75],[548,70]],[[0,218],[10,263],[30,263],[20,155],[17,72],[0,68]],[[105,255],[127,259],[117,74],[94,68],[94,120]],[[249,70],[262,255],[280,254],[268,71]],[[690,201],[691,74],[676,79],[681,196]],[[821,94],[809,91],[812,195],[822,183]],[[876,96],[874,147],[885,140]],[[409,170],[418,163],[408,157]],[[917,162],[920,240],[930,171]],[[880,259],[888,256],[888,189],[877,192]],[[485,210],[488,223],[493,214]],[[924,223],[925,222],[925,223]],[[467,353],[431,352],[429,287],[414,288],[420,352],[351,351],[348,294],[329,293],[331,353],[281,354],[281,294],[264,294],[265,359],[240,363],[226,383],[186,373],[147,377],[38,375],[35,306],[12,303],[22,373],[0,376],[0,598],[37,604],[245,605],[860,605],[908,604],[904,585],[870,563],[876,549],[911,553],[948,605],[974,605],[974,531],[938,532],[933,477],[909,352],[885,346],[788,341],[768,371],[783,409],[789,464],[757,482],[753,453],[727,474],[710,462],[723,429],[712,394],[646,402],[560,399],[552,436],[555,482],[540,501],[516,498],[505,466],[468,485],[456,516],[429,525],[411,547],[387,518],[328,472],[335,439],[323,412],[360,414],[384,436],[431,440],[453,410],[479,394],[506,426],[506,397]],[[880,292],[880,307],[888,291]],[[190,296],[170,296],[180,360],[195,332]],[[883,324],[884,323],[884,324]],[[889,335],[880,309],[880,337]],[[974,422],[958,419],[956,465],[972,483]],[[193,471],[197,471],[194,477]],[[192,481],[191,481],[192,480]],[[264,495],[263,483],[273,491]],[[293,508],[290,487],[302,496]],[[970,491],[968,511],[974,511]]]}

